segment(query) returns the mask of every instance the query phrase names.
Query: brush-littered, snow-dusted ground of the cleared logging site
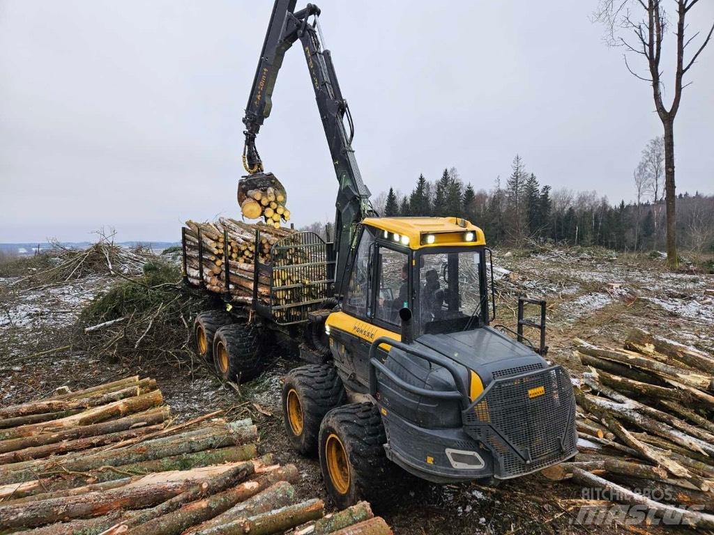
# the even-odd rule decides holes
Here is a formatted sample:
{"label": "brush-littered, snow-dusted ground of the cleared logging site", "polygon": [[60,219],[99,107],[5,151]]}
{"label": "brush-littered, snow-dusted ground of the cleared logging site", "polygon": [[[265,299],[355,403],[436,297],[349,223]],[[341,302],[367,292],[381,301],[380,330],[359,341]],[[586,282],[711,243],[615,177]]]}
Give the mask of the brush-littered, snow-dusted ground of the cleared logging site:
{"label": "brush-littered, snow-dusted ground of the cleared logging site", "polygon": [[[281,350],[260,377],[221,384],[196,362],[188,328],[206,297],[180,282],[176,252],[117,248],[101,241],[84,251],[58,249],[0,265],[0,407],[45,397],[62,385],[89,387],[128,375],[154,377],[178,420],[216,409],[251,417],[260,448],[294,463],[296,488],[328,499],[316,459],[293,452],[283,432],[281,374],[301,365]],[[494,253],[498,318],[513,326],[519,294],[548,300],[548,359],[577,381],[583,366],[575,338],[622,347],[632,327],[714,352],[714,275],[696,265],[665,268],[658,254],[542,248]],[[85,332],[87,327],[118,320]],[[583,526],[582,489],[540,475],[438,486],[415,481],[391,511],[396,534],[626,533],[653,526]],[[683,529],[684,531],[684,529]]]}

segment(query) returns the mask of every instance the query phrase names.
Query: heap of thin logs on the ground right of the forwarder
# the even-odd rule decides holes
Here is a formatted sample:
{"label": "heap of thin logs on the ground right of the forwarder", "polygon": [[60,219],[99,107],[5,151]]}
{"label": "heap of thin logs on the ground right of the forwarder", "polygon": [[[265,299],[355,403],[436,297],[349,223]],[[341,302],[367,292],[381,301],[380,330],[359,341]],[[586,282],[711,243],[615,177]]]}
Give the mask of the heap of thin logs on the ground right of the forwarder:
{"label": "heap of thin logs on the ground right of the forwarder", "polygon": [[543,471],[714,528],[714,357],[634,329],[622,349],[575,340],[578,456]]}

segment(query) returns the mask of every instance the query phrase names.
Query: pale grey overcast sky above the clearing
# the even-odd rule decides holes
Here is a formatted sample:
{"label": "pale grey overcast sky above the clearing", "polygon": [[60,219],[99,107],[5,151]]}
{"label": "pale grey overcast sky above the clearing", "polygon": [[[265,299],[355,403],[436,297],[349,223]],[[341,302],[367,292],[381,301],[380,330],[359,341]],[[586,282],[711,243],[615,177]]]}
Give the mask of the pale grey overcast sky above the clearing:
{"label": "pale grey overcast sky above the clearing", "polygon": [[[241,118],[271,5],[0,0],[0,242],[87,240],[102,225],[176,240],[186,218],[236,215]],[[595,0],[319,5],[373,195],[452,165],[488,189],[519,153],[553,188],[633,197],[640,150],[662,127],[651,88],[590,23]],[[714,21],[714,1],[692,15],[690,33]],[[690,73],[678,191],[714,193],[714,45]],[[333,218],[336,178],[297,47],[258,150],[297,225]]]}

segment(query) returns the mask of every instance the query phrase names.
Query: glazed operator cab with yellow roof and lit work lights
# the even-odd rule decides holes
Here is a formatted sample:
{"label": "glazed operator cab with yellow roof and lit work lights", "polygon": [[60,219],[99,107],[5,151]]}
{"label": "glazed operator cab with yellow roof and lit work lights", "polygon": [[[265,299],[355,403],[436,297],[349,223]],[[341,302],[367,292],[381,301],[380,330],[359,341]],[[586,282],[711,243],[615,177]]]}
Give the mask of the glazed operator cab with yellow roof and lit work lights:
{"label": "glazed operator cab with yellow roof and lit work lights", "polygon": [[486,240],[458,218],[367,218],[357,236],[343,310],[399,332],[413,311],[416,335],[488,325]]}

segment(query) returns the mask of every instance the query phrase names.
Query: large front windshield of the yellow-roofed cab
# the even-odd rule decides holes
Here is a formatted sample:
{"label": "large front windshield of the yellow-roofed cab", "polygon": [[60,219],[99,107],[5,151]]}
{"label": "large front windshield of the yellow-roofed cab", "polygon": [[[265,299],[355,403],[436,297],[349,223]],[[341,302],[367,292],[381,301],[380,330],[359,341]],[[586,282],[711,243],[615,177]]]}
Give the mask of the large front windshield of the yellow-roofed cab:
{"label": "large front windshield of the yellow-roofed cab", "polygon": [[[487,310],[483,250],[423,253],[419,261],[422,332],[478,327]],[[483,287],[482,287],[483,285]],[[469,318],[474,317],[471,322]]]}

